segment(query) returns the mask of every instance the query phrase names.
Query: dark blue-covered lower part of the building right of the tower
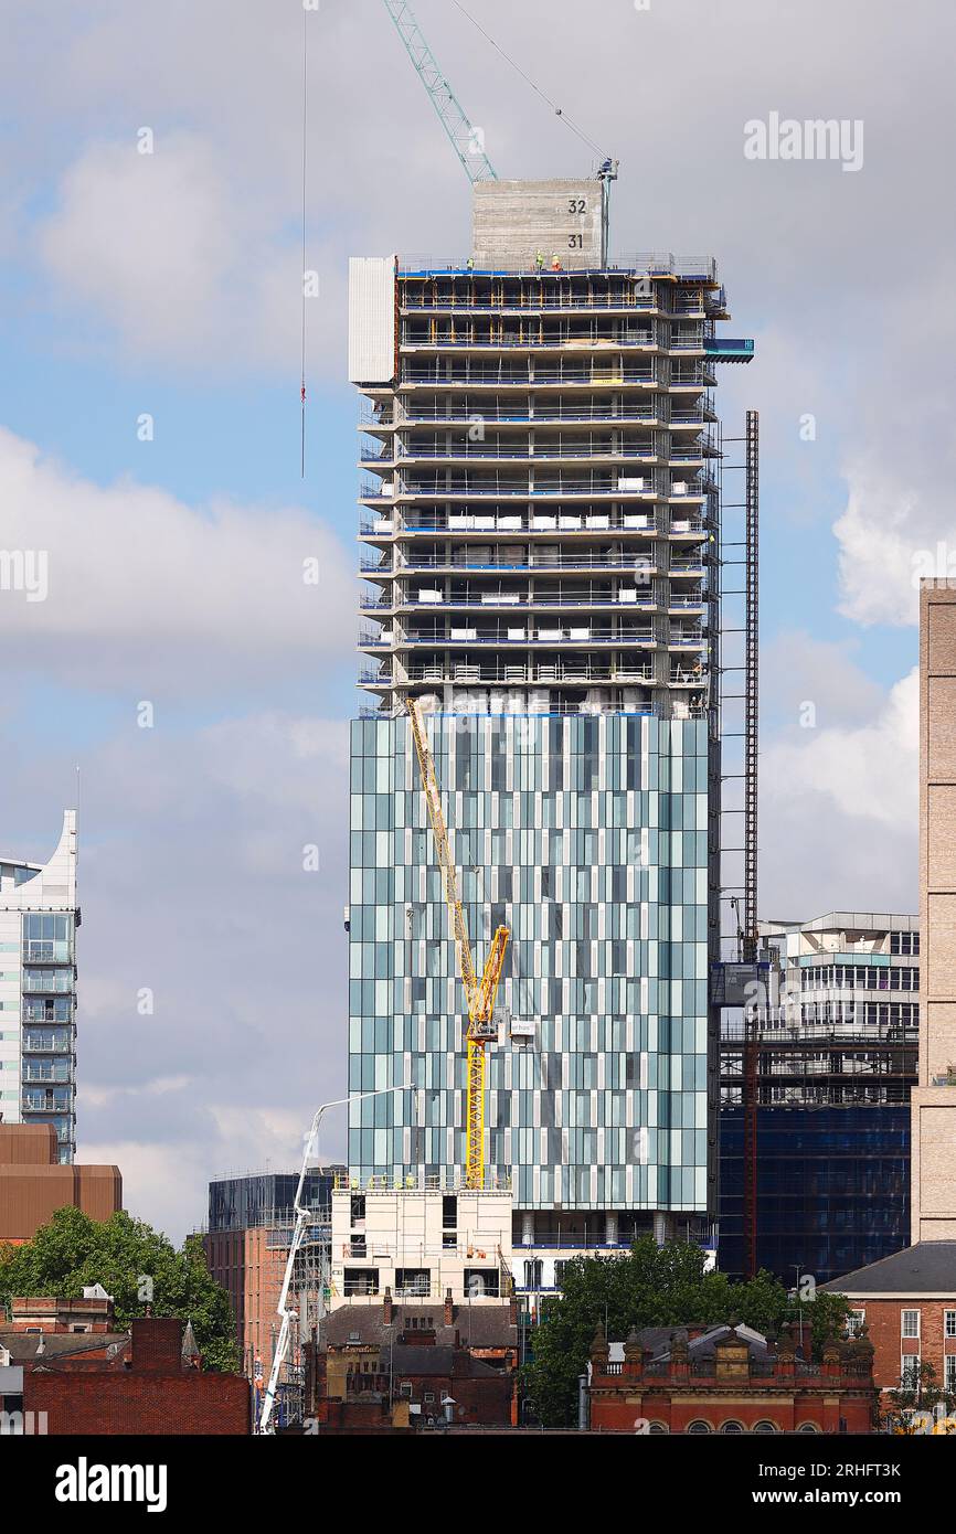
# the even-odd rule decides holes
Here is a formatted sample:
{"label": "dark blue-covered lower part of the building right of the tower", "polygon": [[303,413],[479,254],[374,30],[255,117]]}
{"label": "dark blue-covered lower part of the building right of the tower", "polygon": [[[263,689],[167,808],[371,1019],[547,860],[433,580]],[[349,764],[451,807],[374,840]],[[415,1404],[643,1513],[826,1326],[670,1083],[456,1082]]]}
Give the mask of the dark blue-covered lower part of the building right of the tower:
{"label": "dark blue-covered lower part of the building right of the tower", "polygon": [[[721,1272],[744,1276],[743,1111],[721,1111]],[[910,1109],[761,1108],[757,1121],[757,1266],[818,1284],[910,1243]]]}

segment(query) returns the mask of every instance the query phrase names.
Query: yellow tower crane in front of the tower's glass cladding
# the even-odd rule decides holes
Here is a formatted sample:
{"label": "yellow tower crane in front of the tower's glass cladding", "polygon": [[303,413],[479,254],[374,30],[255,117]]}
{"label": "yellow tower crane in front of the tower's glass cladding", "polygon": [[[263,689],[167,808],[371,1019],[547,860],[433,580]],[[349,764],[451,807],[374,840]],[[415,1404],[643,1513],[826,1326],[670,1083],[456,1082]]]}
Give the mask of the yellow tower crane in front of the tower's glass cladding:
{"label": "yellow tower crane in front of the tower's glass cladding", "polygon": [[474,968],[474,959],[471,957],[471,943],[468,942],[468,925],[465,922],[465,910],[462,907],[462,897],[459,894],[459,881],[454,867],[454,858],[451,854],[451,844],[448,841],[448,828],[445,825],[445,816],[442,813],[442,793],[439,788],[437,773],[434,770],[434,758],[428,746],[428,738],[425,735],[425,727],[422,724],[422,715],[419,710],[417,700],[407,698],[405,701],[408,707],[408,718],[411,719],[411,735],[414,738],[414,750],[419,759],[419,772],[422,776],[425,804],[428,805],[428,819],[431,821],[431,831],[434,834],[434,845],[437,851],[439,867],[442,870],[445,904],[448,907],[448,916],[451,917],[451,931],[454,936],[459,974],[462,977],[462,985],[465,986],[465,1003],[468,1008],[468,1031],[465,1034],[465,1042],[468,1048],[468,1098],[465,1111],[465,1187],[483,1187],[485,1186],[485,1048],[493,1039],[497,1037],[497,1029],[494,1026],[494,997],[497,994],[499,980],[502,979],[502,968],[505,965],[505,950],[508,948],[508,939],[511,937],[511,930],[508,927],[496,928],[494,937],[491,939],[488,959],[485,960],[485,969],[482,973],[482,979],[479,980]]}

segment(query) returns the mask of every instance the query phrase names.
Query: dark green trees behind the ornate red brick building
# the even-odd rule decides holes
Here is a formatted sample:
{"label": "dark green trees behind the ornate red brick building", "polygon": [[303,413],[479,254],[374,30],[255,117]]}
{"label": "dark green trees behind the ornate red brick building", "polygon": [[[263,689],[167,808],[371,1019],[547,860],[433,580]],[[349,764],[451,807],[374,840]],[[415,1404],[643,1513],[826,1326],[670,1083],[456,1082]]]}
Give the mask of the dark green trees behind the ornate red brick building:
{"label": "dark green trees behind the ornate red brick building", "polygon": [[545,1427],[572,1427],[577,1381],[598,1325],[614,1341],[632,1328],[721,1325],[730,1319],[766,1335],[801,1316],[818,1358],[822,1345],[839,1336],[847,1310],[839,1295],[818,1293],[795,1304],[767,1272],[732,1284],[726,1273],[704,1273],[700,1247],[680,1241],[658,1247],[652,1236],[641,1236],[626,1258],[580,1256],[565,1266],[562,1298],[548,1305],[534,1332],[534,1361],[523,1370],[523,1384]]}

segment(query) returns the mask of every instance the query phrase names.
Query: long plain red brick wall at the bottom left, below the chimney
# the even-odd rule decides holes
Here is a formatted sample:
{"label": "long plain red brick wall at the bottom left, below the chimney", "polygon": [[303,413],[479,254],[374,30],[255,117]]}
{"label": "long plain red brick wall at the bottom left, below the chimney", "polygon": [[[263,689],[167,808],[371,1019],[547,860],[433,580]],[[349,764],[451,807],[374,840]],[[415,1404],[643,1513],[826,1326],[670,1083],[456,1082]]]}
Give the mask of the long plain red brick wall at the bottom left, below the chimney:
{"label": "long plain red brick wall at the bottom left, below the chimney", "polygon": [[249,1428],[249,1382],[239,1374],[31,1373],[23,1410],[46,1411],[48,1433],[230,1434]]}

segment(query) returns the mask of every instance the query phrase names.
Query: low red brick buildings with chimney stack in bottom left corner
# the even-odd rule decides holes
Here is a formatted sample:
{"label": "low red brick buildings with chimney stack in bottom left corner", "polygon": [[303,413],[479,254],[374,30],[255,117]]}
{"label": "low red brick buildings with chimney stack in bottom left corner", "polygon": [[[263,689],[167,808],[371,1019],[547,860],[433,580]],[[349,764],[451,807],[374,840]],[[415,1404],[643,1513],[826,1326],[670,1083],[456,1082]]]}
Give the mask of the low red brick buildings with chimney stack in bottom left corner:
{"label": "low red brick buildings with chimney stack in bottom left corner", "polygon": [[242,1436],[250,1387],[241,1374],[207,1373],[192,1327],[176,1318],[121,1332],[112,1302],[15,1299],[0,1327],[0,1411],[49,1434]]}

